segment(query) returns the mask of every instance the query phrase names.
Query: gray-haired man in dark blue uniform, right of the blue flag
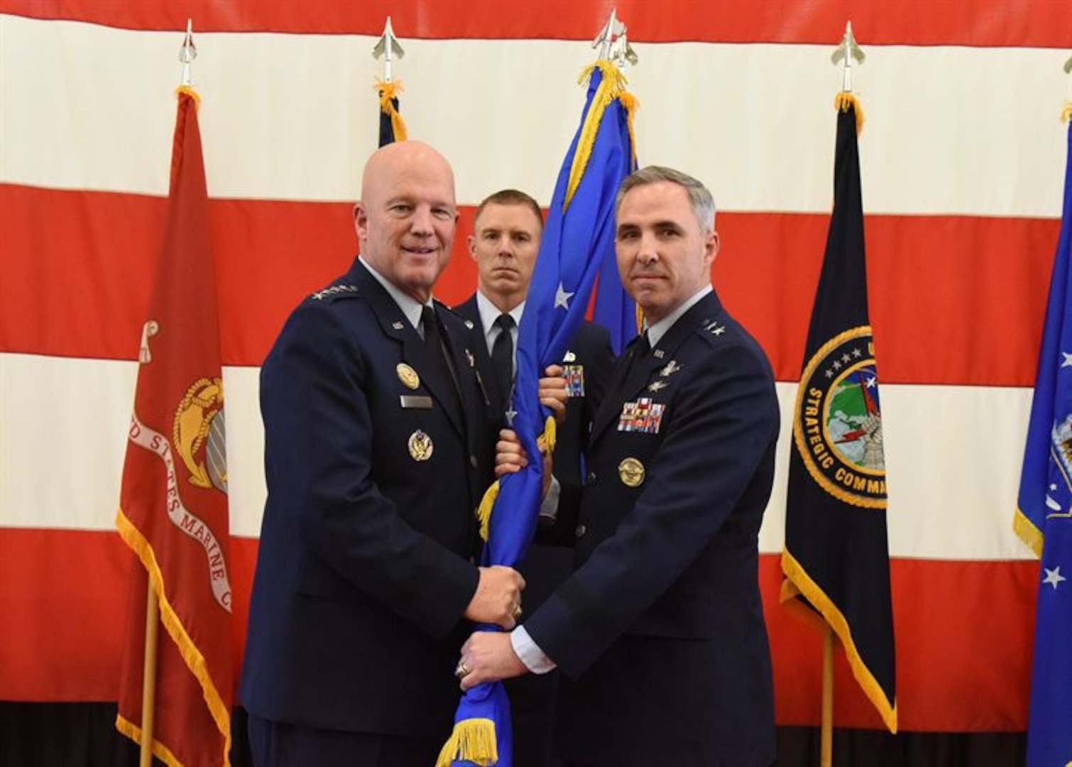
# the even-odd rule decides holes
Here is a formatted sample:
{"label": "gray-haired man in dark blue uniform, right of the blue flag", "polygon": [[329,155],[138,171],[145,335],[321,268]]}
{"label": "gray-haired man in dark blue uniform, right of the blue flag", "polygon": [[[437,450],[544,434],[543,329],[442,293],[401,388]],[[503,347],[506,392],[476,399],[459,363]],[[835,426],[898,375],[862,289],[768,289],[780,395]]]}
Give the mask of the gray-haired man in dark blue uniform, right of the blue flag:
{"label": "gray-haired man in dark blue uniform, right of the blue flag", "polygon": [[[710,192],[650,167],[617,205],[619,270],[647,330],[596,413],[572,504],[576,570],[523,626],[471,637],[462,682],[557,666],[570,765],[766,767],[758,533],[778,434],[773,374],[711,287]],[[560,515],[570,506],[564,492]]]}

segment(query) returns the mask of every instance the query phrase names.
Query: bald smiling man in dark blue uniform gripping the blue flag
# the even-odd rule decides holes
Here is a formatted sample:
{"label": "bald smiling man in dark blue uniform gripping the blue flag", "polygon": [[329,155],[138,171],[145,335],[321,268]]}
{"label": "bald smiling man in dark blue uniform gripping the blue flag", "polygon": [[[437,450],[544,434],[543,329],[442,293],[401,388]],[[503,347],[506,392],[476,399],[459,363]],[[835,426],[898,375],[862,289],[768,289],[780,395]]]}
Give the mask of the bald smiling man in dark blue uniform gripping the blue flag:
{"label": "bald smiling man in dark blue uniform gripping the blue flag", "polygon": [[240,699],[254,762],[430,765],[468,620],[512,628],[522,578],[473,564],[492,424],[462,321],[431,300],[457,223],[417,142],[364,169],[361,257],[265,360],[268,501]]}

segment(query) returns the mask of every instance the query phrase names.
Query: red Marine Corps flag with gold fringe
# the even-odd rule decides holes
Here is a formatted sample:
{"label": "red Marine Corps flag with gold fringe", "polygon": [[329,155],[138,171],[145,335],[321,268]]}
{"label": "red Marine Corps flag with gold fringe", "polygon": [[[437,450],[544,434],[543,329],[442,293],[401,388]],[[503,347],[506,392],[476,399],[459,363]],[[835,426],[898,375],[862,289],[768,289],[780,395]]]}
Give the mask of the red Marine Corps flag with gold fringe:
{"label": "red Marine Corps flag with gold fringe", "polygon": [[[227,765],[232,607],[224,399],[196,97],[179,89],[164,241],[142,331],[116,526],[137,555],[116,726],[172,767]],[[148,576],[147,576],[148,574]],[[147,582],[148,581],[148,582]],[[165,629],[146,651],[147,586]],[[154,624],[153,624],[154,630]],[[152,630],[150,630],[152,636]],[[155,703],[143,711],[143,658]]]}

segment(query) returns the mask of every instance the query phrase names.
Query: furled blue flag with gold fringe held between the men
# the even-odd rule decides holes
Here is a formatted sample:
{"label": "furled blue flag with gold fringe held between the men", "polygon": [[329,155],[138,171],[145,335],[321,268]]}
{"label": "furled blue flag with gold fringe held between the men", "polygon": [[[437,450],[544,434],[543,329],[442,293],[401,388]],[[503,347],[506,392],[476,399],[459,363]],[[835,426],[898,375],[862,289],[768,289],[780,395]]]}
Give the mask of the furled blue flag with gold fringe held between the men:
{"label": "furled blue flag with gold fringe held between the men", "polygon": [[[625,25],[614,15],[604,28],[611,40],[596,39],[601,56],[581,74],[587,98],[581,124],[559,172],[539,255],[525,300],[518,337],[517,384],[511,401],[513,430],[535,456],[554,446],[554,418],[539,403],[539,372],[562,359],[580,326],[600,266],[614,257],[614,196],[636,169],[632,147],[635,99],[610,60],[615,50],[629,59]],[[616,47],[615,47],[616,46]],[[635,55],[634,55],[635,58]],[[512,565],[524,555],[536,529],[544,466],[533,460],[517,474],[495,482],[478,512],[486,545],[481,564]],[[480,625],[480,631],[500,631]],[[455,714],[455,729],[437,767],[512,764],[509,702],[502,682],[468,689]]]}

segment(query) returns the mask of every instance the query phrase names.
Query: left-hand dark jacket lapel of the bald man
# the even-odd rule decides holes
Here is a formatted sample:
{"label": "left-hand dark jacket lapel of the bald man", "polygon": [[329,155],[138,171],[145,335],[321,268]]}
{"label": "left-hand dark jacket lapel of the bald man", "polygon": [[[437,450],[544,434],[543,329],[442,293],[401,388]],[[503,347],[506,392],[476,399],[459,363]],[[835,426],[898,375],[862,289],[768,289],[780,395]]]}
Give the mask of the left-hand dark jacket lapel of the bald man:
{"label": "left-hand dark jacket lapel of the bald man", "polygon": [[[372,313],[379,323],[384,335],[401,345],[399,362],[405,363],[417,371],[420,385],[427,388],[429,394],[440,403],[455,430],[464,436],[462,414],[458,412],[458,398],[455,396],[455,384],[443,373],[442,366],[436,365],[432,357],[433,350],[425,345],[425,341],[417,335],[417,330],[410,324],[399,305],[360,262],[355,262],[354,268],[351,269],[351,276],[361,283],[361,293],[372,307]],[[449,346],[450,343],[448,342],[447,345]],[[465,365],[467,367],[468,363]],[[458,370],[457,357],[455,358],[455,369]]]}

